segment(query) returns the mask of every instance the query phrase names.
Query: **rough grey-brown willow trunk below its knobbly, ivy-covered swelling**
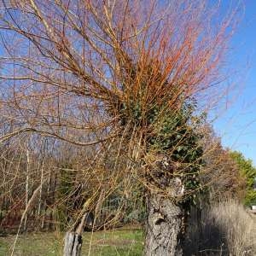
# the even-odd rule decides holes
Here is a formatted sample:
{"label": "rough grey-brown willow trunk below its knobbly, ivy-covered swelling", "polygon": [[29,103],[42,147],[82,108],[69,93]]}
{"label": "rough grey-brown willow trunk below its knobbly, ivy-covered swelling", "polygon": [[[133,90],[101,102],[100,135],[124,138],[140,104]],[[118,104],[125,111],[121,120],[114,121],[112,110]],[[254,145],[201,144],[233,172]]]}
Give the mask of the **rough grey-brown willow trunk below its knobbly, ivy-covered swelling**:
{"label": "rough grey-brown willow trunk below its knobbly, ivy-covered swelling", "polygon": [[156,193],[148,194],[146,256],[183,255],[183,209]]}

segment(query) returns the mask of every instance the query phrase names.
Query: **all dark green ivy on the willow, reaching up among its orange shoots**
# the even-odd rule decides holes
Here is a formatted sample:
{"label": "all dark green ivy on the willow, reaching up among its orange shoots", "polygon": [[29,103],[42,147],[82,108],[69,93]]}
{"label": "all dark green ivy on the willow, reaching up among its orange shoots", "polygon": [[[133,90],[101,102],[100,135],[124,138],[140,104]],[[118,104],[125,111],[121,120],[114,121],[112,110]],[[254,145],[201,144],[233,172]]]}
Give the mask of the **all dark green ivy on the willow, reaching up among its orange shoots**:
{"label": "all dark green ivy on the willow, reaching up among its orange shoots", "polygon": [[[200,125],[204,118],[194,114],[197,107],[195,99],[185,98],[182,94],[177,94],[177,102],[180,104],[177,108],[159,96],[149,99],[147,106],[143,106],[147,86],[152,82],[151,69],[148,67],[148,75],[141,81],[138,96],[132,96],[128,103],[119,104],[120,123],[124,127],[130,124],[131,129],[137,127],[137,130],[143,131],[148,152],[164,154],[168,160],[181,165],[175,171],[175,176],[183,180],[187,196],[182,202],[189,207],[189,204],[195,204],[194,192],[201,189],[199,172],[203,154],[200,145],[202,136],[195,131],[194,126]],[[135,73],[131,73],[131,80]],[[164,81],[160,73],[157,77]],[[166,81],[163,83],[167,84]]]}

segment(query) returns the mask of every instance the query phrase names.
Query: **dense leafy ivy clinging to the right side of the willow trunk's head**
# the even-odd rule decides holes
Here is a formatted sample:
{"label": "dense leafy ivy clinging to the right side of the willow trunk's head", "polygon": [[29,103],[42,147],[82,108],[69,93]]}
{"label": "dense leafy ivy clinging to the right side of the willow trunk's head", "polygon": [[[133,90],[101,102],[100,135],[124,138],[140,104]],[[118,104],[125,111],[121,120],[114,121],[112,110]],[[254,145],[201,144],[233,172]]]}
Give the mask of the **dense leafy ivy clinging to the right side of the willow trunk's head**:
{"label": "dense leafy ivy clinging to the right side of the willow trunk's head", "polygon": [[[155,118],[156,133],[150,137],[154,150],[167,154],[173,162],[182,166],[177,168],[175,175],[183,180],[188,195],[183,198],[182,203],[188,208],[190,204],[195,204],[195,191],[201,191],[199,172],[203,164],[201,134],[195,131],[191,122],[195,105],[193,101],[185,102],[179,111],[172,112],[169,109],[160,120]],[[160,115],[157,111],[155,113]]]}

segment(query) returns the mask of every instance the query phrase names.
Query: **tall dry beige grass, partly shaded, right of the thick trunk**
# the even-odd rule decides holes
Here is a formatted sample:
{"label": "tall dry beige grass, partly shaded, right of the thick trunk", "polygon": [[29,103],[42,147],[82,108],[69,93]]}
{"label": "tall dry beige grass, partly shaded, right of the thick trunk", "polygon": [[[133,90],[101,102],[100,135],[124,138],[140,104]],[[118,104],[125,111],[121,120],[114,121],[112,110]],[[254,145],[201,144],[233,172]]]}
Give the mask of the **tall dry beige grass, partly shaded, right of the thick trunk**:
{"label": "tall dry beige grass, partly shaded, right of the thick trunk", "polygon": [[186,255],[256,255],[256,217],[236,201],[205,208],[189,227]]}

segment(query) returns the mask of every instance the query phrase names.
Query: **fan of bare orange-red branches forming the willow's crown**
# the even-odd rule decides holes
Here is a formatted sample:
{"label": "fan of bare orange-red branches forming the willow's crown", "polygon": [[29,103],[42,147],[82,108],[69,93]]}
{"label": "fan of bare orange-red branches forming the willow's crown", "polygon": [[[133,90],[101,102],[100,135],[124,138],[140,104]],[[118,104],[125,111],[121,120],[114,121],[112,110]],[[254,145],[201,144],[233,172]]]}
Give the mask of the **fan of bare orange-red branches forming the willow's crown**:
{"label": "fan of bare orange-red branches forming the willow's crown", "polygon": [[81,145],[117,134],[120,104],[178,108],[218,84],[234,25],[229,15],[212,29],[218,6],[205,1],[1,5],[2,106],[24,120],[15,132]]}

